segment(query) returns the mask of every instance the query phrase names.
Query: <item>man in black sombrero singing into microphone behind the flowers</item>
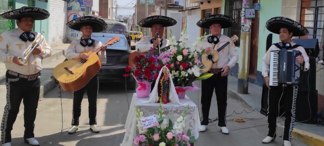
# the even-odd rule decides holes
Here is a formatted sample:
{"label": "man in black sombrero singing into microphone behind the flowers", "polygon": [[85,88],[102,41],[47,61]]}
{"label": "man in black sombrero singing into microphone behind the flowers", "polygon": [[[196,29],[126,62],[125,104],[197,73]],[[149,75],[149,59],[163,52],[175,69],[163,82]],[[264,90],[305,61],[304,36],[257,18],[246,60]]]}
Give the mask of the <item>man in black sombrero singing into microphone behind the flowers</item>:
{"label": "man in black sombrero singing into microphone behind the flowers", "polygon": [[[169,45],[169,41],[163,37],[164,27],[176,25],[177,21],[167,16],[150,16],[142,19],[138,25],[145,28],[151,28],[152,36],[144,36],[136,45],[136,50],[144,53],[151,47],[160,49]],[[159,37],[157,37],[157,35]]]}

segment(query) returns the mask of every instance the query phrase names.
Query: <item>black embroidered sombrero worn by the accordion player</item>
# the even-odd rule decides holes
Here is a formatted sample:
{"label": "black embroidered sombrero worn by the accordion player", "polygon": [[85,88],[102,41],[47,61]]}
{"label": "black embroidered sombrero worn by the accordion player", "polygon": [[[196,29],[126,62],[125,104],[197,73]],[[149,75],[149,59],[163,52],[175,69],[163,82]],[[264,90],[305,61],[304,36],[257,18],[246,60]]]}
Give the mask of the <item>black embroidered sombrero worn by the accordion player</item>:
{"label": "black embroidered sombrero worn by the accordion player", "polygon": [[279,34],[281,28],[287,28],[293,32],[293,36],[304,36],[308,30],[300,23],[285,17],[273,17],[269,19],[265,26],[273,33]]}

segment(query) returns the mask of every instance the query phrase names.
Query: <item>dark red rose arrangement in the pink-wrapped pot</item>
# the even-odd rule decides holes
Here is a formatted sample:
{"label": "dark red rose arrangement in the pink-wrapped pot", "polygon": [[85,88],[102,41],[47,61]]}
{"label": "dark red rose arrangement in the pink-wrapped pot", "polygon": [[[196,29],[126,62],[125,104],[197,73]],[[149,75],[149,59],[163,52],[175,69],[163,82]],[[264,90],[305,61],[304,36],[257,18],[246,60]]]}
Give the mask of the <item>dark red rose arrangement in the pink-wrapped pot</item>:
{"label": "dark red rose arrangement in the pink-wrapped pot", "polygon": [[159,69],[157,68],[157,55],[153,54],[154,48],[147,51],[146,54],[137,53],[133,59],[133,67],[126,67],[125,70],[127,74],[125,77],[130,75],[131,72],[138,81],[152,82],[156,80]]}

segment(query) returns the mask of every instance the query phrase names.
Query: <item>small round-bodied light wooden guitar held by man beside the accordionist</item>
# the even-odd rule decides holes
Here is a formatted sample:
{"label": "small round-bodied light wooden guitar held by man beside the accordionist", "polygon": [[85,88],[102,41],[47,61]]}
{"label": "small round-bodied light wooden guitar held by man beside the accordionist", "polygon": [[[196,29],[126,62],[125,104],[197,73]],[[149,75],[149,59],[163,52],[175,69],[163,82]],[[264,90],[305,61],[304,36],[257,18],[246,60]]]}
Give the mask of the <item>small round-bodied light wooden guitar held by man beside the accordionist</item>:
{"label": "small round-bodied light wooden guitar held by man beside the accordionist", "polygon": [[218,52],[222,51],[228,44],[234,43],[238,40],[237,35],[234,35],[231,37],[231,39],[223,44],[220,48],[217,50],[212,49],[210,53],[204,53],[202,55],[202,64],[205,66],[205,68],[200,69],[200,72],[205,73],[207,72],[212,65],[218,61]]}

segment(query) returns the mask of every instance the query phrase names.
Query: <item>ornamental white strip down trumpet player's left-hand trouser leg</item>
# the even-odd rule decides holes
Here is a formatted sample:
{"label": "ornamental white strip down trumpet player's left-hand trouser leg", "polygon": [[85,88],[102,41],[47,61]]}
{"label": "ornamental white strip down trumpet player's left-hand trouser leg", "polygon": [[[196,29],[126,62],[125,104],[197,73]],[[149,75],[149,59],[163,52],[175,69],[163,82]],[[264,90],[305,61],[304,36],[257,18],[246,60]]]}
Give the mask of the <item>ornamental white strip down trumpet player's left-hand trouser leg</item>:
{"label": "ornamental white strip down trumpet player's left-hand trouser leg", "polygon": [[7,128],[7,120],[8,120],[8,115],[9,115],[9,110],[11,109],[11,105],[10,105],[10,82],[16,82],[18,81],[19,78],[16,79],[8,79],[8,82],[6,82],[6,88],[7,88],[7,103],[5,106],[5,111],[3,112],[3,118],[2,118],[2,122],[1,122],[1,133],[2,133],[2,143],[5,143],[6,141],[6,128]]}

